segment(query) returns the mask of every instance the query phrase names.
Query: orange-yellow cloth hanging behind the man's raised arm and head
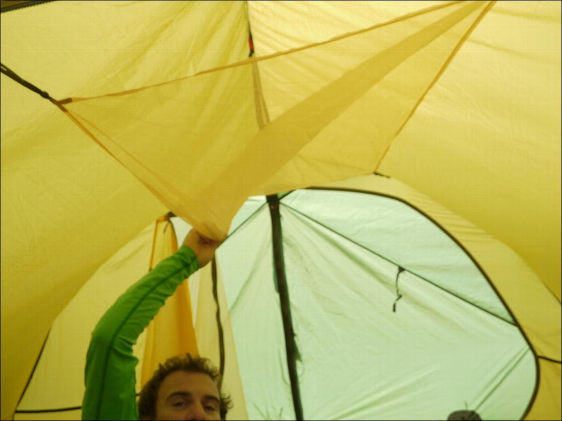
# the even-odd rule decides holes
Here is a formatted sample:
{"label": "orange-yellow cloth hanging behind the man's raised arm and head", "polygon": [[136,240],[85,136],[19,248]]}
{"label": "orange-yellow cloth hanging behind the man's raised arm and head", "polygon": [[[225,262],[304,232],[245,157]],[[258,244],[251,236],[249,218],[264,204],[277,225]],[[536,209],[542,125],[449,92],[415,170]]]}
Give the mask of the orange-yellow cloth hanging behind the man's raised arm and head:
{"label": "orange-yellow cloth hanging behind the man's raised arm and head", "polygon": [[[185,233],[182,232],[182,237]],[[154,228],[150,268],[152,269],[161,259],[173,254],[178,249],[175,228],[170,221],[170,214],[158,218]],[[230,419],[247,419],[246,405],[242,382],[238,373],[236,351],[232,337],[232,327],[228,316],[228,306],[224,298],[222,278],[216,268],[216,262],[210,267],[203,268],[189,278],[187,282],[178,286],[173,296],[166,300],[166,304],[146,329],[144,354],[139,367],[142,367],[139,387],[152,377],[154,371],[166,359],[173,355],[202,355],[211,359],[220,369],[224,361],[223,378],[221,384],[228,390],[236,405],[229,411]],[[212,269],[215,265],[215,269]],[[210,271],[211,269],[211,271]],[[212,271],[215,271],[217,282],[217,300],[221,309],[222,332],[217,330],[216,305],[214,303],[214,285]],[[219,291],[220,288],[220,291]],[[190,290],[197,293],[197,312],[192,312]],[[222,335],[222,338],[219,338]],[[198,346],[198,338],[201,345]],[[220,355],[219,341],[224,343],[224,355]],[[201,349],[201,352],[200,352]],[[226,358],[226,360],[225,360]]]}

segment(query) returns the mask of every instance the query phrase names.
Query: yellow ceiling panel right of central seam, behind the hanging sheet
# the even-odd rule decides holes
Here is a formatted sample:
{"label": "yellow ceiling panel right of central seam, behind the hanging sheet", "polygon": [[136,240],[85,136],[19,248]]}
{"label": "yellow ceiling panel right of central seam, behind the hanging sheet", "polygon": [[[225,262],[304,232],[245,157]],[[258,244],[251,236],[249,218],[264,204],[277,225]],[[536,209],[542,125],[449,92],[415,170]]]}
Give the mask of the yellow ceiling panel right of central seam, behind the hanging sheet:
{"label": "yellow ceiling panel right of central seam, behind the hanging sheet", "polygon": [[[432,4],[250,2],[250,20],[266,56]],[[509,244],[559,300],[560,14],[557,2],[495,3],[379,168]]]}

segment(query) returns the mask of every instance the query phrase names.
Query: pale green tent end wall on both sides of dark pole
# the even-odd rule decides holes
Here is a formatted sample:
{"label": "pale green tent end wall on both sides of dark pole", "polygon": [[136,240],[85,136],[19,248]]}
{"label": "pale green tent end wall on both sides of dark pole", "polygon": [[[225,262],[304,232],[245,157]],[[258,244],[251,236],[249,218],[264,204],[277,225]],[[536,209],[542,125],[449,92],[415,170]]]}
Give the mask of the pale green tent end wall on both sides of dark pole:
{"label": "pale green tent end wall on both sides of dark pole", "polygon": [[[326,211],[327,204],[314,193],[318,192],[299,191],[282,203],[298,206],[314,201]],[[321,194],[361,209],[363,198],[354,200],[361,194]],[[347,213],[347,226],[375,237],[378,231],[365,225],[380,216],[377,210],[386,210],[384,202],[390,199],[369,199],[375,202],[373,212],[365,219]],[[402,222],[409,223],[408,213],[416,212],[401,205]],[[400,221],[400,212],[392,217]],[[412,230],[432,225],[417,217]],[[536,369],[514,324],[410,272],[400,275],[396,287],[395,263],[284,205],[282,221],[306,419],[445,419],[465,405],[483,419],[522,416],[533,395]],[[251,418],[293,419],[269,224],[264,208],[225,243],[218,258]],[[395,236],[397,245],[408,248],[402,240]],[[248,245],[255,253],[248,253]],[[454,262],[454,255],[463,251],[456,244],[447,245]],[[416,253],[415,246],[410,253]],[[430,266],[433,259],[442,266],[449,262],[441,253],[428,255],[431,258],[420,266]],[[242,266],[241,261],[248,263]],[[468,261],[465,266],[468,272],[473,264]],[[250,276],[244,273],[247,267],[253,268]],[[463,279],[462,269],[451,281],[475,286],[477,282]],[[237,280],[244,282],[237,285]],[[479,281],[488,286],[483,277]],[[398,293],[402,298],[396,301]],[[493,291],[488,289],[488,294]],[[256,370],[256,361],[263,359],[264,369]]]}

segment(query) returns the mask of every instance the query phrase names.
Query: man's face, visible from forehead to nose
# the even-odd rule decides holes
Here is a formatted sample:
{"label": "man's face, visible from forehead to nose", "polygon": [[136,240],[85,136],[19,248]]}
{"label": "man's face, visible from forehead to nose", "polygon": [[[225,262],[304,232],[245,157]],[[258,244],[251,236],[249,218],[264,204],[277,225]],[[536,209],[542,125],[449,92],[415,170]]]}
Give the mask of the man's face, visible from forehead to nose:
{"label": "man's face, visible from forehead to nose", "polygon": [[158,390],[156,419],[220,420],[220,395],[205,373],[170,373]]}

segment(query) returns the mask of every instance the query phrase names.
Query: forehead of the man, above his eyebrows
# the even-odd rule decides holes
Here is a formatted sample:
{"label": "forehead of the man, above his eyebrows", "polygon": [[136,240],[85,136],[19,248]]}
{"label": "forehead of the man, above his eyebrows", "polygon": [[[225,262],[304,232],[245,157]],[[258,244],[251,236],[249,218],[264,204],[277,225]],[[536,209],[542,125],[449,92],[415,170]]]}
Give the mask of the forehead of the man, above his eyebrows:
{"label": "forehead of the man, above his eyebrows", "polygon": [[197,395],[197,396],[213,396],[219,399],[219,390],[211,377],[205,373],[176,371],[170,373],[162,384],[158,395],[163,399],[167,399],[174,393]]}

